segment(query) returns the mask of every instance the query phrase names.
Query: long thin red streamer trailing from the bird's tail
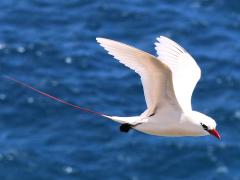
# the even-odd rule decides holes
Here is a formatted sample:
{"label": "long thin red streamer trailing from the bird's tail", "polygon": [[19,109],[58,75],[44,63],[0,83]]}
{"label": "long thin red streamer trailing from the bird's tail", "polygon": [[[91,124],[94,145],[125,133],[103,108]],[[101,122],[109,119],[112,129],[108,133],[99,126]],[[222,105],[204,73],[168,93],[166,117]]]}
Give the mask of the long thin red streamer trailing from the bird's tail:
{"label": "long thin red streamer trailing from the bird's tail", "polygon": [[55,97],[55,96],[52,96],[52,95],[50,95],[50,94],[47,94],[47,93],[45,93],[45,92],[43,92],[43,91],[40,91],[40,90],[38,90],[38,89],[36,89],[36,88],[28,85],[28,84],[25,84],[24,82],[19,81],[19,80],[17,80],[17,79],[14,79],[14,78],[12,78],[12,77],[4,76],[4,78],[6,78],[6,79],[8,79],[8,80],[10,80],[10,81],[13,81],[13,82],[15,82],[15,83],[17,83],[17,84],[20,84],[20,85],[22,85],[22,86],[24,86],[24,87],[26,87],[26,88],[28,88],[28,89],[31,89],[31,90],[33,90],[33,91],[35,91],[35,92],[37,92],[37,93],[39,93],[39,94],[41,94],[41,95],[43,95],[43,96],[46,96],[46,97],[48,97],[48,98],[50,98],[50,99],[53,99],[53,100],[58,101],[58,102],[61,102],[61,103],[65,104],[65,105],[67,105],[67,106],[71,106],[71,107],[73,107],[73,108],[75,108],[75,109],[79,109],[79,110],[81,110],[81,111],[85,111],[85,112],[88,112],[88,113],[92,113],[92,114],[95,114],[95,115],[98,115],[98,116],[107,117],[107,115],[102,114],[102,113],[100,113],[100,112],[96,112],[96,111],[93,111],[93,110],[91,110],[91,109],[84,108],[84,107],[80,107],[80,106],[71,104],[71,103],[69,103],[69,102],[66,102],[66,101],[64,101],[63,99],[60,99],[60,98],[58,98],[58,97]]}

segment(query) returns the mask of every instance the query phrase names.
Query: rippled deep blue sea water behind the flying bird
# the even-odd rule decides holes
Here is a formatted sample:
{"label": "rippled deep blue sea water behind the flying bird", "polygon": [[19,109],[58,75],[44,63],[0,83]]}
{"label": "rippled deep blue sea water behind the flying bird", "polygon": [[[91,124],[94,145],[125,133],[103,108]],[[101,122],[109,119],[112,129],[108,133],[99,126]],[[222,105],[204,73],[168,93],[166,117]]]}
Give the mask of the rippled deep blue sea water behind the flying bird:
{"label": "rippled deep blue sea water behind the flying bird", "polygon": [[173,38],[202,69],[194,109],[216,119],[222,135],[123,134],[1,79],[1,180],[240,179],[239,1],[1,0],[0,9],[1,75],[109,115],[146,106],[138,76],[95,38],[154,55],[156,37]]}

